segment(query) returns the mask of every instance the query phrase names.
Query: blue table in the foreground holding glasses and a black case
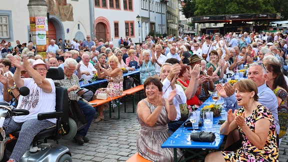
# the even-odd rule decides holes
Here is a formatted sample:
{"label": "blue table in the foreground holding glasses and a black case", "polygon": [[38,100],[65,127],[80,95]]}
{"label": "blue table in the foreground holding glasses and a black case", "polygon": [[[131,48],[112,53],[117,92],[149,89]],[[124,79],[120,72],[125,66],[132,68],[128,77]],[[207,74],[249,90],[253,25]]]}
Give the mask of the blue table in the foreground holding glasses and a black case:
{"label": "blue table in the foreground holding glasses and a black case", "polygon": [[[205,105],[215,103],[210,96],[202,105],[197,109],[200,110]],[[217,104],[223,103],[223,100],[218,100]],[[177,151],[176,148],[208,148],[208,149],[218,149],[220,144],[223,142],[224,135],[219,133],[220,126],[219,120],[226,119],[225,109],[222,108],[221,115],[218,117],[213,117],[213,125],[211,131],[215,133],[215,140],[213,142],[201,142],[201,141],[191,141],[191,127],[185,127],[183,124],[161,145],[162,148],[173,148],[174,150],[174,161],[177,161]],[[205,127],[199,127],[201,130],[205,131]],[[189,129],[189,130],[188,130]],[[200,131],[200,130],[198,130]],[[193,156],[188,157],[188,159],[194,158],[199,155],[199,153],[190,151],[194,153]]]}

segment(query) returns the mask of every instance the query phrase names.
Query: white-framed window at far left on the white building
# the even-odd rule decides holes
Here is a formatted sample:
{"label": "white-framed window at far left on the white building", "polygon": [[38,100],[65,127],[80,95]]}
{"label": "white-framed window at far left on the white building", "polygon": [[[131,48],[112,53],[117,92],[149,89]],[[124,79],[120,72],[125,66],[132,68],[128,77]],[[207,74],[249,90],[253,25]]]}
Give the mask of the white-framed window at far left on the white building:
{"label": "white-framed window at far left on the white building", "polygon": [[12,17],[10,10],[0,10],[0,38],[13,41]]}

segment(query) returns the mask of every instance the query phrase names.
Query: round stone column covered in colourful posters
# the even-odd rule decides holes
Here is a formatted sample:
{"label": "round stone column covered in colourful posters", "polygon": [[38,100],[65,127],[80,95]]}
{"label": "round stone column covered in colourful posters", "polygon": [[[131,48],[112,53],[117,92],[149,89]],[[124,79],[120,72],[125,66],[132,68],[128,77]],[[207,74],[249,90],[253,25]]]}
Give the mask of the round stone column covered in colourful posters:
{"label": "round stone column covered in colourful posters", "polygon": [[30,19],[31,41],[36,45],[37,54],[46,57],[48,44],[48,21],[47,4],[45,0],[29,0],[28,4]]}

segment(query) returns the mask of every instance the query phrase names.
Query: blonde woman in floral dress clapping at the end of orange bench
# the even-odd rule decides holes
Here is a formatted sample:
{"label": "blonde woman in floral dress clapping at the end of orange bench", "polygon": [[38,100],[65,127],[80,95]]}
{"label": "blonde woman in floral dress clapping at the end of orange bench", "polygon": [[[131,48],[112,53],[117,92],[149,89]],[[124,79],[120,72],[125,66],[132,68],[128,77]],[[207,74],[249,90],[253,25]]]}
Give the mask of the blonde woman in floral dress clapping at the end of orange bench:
{"label": "blonde woman in floral dress clapping at the end of orange bench", "polygon": [[[108,85],[106,88],[98,88],[95,92],[93,100],[96,99],[98,93],[106,93],[108,96],[119,96],[122,95],[123,92],[123,73],[121,68],[118,66],[119,61],[118,58],[114,55],[110,56],[109,59],[110,67],[108,69],[103,68],[99,62],[97,73],[98,77],[103,78],[105,76],[108,77]],[[102,71],[102,72],[101,72]],[[104,119],[103,109],[104,105],[97,106],[99,110],[99,116],[94,120],[94,122],[99,122]]]}

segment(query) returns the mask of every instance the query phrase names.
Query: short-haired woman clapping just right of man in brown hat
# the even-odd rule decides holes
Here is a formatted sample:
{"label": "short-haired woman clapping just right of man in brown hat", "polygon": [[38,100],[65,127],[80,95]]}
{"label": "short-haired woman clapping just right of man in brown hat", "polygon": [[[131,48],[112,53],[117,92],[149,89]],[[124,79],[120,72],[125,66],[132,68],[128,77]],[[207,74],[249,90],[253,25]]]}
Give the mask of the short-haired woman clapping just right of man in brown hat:
{"label": "short-haired woman clapping just right of man in brown hat", "polygon": [[[211,50],[209,53],[210,61],[206,64],[206,70],[208,70],[209,67],[213,68],[213,75],[217,74],[219,78],[222,78],[224,76],[224,63],[225,61],[221,61],[221,58],[219,57],[216,50]],[[216,80],[214,82],[219,83],[219,80]]]}

